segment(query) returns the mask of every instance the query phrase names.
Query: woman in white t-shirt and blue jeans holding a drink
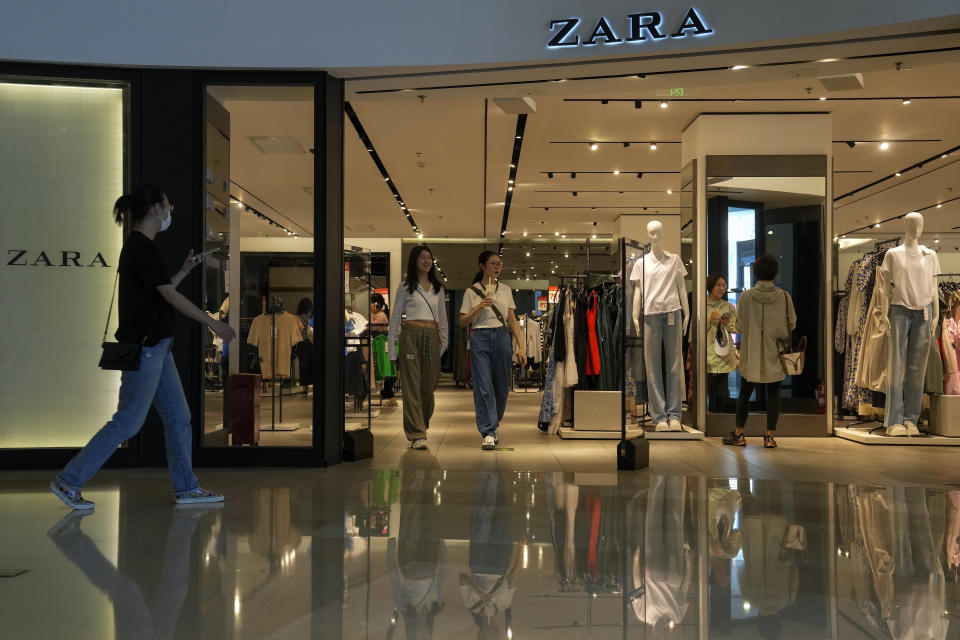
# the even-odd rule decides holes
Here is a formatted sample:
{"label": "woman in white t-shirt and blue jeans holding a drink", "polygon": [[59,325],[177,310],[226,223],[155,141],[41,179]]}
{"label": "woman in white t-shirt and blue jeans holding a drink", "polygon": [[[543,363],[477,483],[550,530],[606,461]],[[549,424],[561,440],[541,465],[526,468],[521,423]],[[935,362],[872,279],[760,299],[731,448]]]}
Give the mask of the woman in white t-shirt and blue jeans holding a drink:
{"label": "woman in white t-shirt and blue jeans holding a drink", "polygon": [[[519,345],[518,363],[527,365],[526,341],[520,333],[510,287],[497,282],[503,262],[495,251],[480,254],[480,272],[463,294],[460,326],[470,327],[470,375],[481,448],[497,447],[497,429],[507,409],[510,394],[510,362],[513,348],[510,332]],[[509,326],[509,330],[507,327]]]}

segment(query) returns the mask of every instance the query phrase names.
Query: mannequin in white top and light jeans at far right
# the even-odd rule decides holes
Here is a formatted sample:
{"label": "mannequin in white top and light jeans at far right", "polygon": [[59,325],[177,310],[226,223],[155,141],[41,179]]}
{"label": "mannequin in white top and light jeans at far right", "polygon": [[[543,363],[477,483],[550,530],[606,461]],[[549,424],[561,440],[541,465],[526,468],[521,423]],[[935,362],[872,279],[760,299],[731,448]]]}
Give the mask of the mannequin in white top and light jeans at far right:
{"label": "mannequin in white top and light jeans at far right", "polygon": [[878,272],[889,287],[883,322],[890,336],[887,350],[887,404],[884,426],[888,436],[920,435],[917,420],[923,401],[923,381],[940,313],[936,252],[919,244],[923,216],[904,216],[903,244],[887,251]]}

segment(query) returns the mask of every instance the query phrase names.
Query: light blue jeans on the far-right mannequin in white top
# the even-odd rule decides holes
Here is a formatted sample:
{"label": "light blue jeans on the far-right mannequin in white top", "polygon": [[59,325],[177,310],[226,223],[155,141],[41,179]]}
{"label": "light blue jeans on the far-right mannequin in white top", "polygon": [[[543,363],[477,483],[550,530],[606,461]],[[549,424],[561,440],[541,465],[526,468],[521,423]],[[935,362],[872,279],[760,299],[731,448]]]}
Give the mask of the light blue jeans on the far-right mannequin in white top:
{"label": "light blue jeans on the far-right mannequin in white top", "polygon": [[[927,319],[924,319],[926,314]],[[923,381],[930,355],[933,303],[926,311],[890,305],[887,340],[887,406],[884,426],[917,424],[923,404]]]}

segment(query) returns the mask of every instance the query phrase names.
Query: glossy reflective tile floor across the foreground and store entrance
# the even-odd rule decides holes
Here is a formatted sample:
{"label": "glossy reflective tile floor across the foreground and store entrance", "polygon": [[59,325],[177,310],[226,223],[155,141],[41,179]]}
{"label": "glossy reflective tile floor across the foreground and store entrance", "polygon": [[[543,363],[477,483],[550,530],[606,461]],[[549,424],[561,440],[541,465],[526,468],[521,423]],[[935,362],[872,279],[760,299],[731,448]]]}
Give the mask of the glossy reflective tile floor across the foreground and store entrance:
{"label": "glossy reflective tile floor across the foreground and store entrance", "polygon": [[202,469],[217,507],[108,469],[84,516],[3,472],[0,638],[960,638],[952,451],[655,442],[618,474],[534,398],[494,452],[445,390],[426,452],[385,416],[372,460]]}

